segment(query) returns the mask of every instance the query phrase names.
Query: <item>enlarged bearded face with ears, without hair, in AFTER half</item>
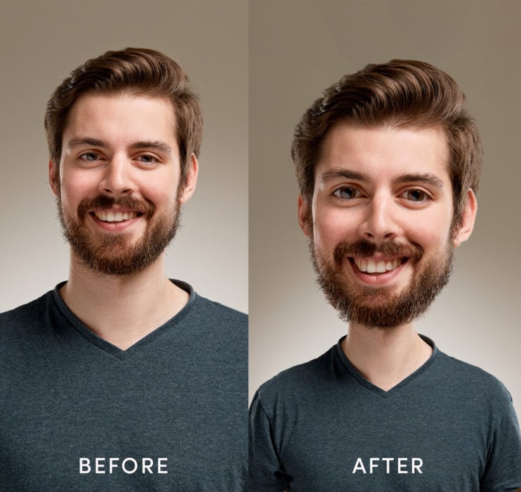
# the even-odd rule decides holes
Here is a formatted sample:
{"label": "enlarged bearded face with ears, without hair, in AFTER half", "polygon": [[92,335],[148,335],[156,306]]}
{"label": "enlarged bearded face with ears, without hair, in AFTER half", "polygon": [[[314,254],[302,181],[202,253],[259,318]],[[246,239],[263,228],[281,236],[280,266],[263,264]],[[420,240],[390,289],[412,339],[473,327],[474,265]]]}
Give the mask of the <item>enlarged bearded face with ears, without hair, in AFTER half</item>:
{"label": "enlarged bearded face with ears, without hair, in AFTER half", "polygon": [[447,283],[452,242],[470,235],[475,199],[469,192],[473,212],[453,234],[446,155],[437,129],[331,129],[299,219],[319,285],[345,321],[409,323]]}

